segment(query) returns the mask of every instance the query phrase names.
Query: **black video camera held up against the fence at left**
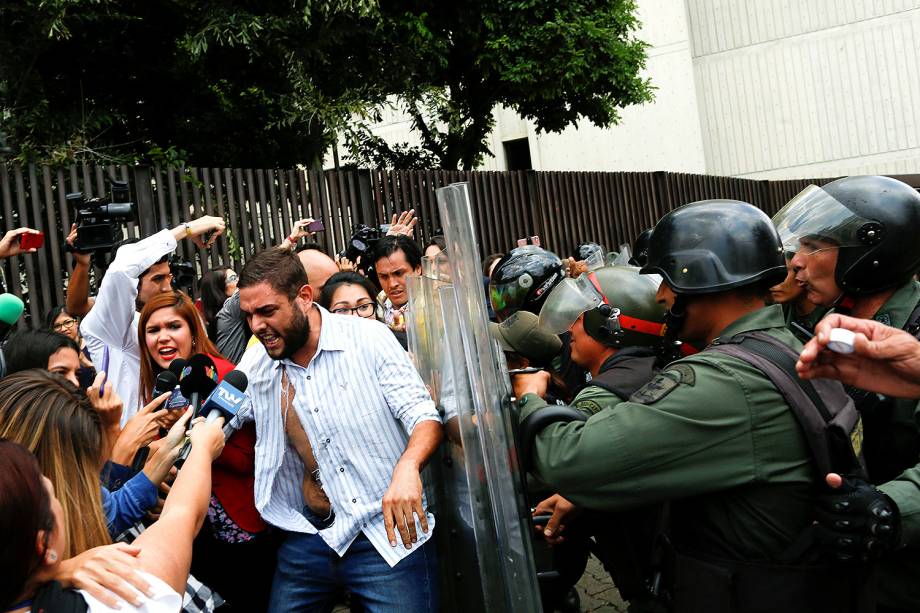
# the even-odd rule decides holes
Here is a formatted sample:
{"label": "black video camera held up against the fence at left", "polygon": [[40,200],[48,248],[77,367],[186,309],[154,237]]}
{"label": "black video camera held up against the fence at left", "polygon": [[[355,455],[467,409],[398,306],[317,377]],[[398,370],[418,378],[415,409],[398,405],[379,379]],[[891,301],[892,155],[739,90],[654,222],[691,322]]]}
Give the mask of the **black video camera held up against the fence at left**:
{"label": "black video camera held up against the fence at left", "polygon": [[109,198],[86,200],[83,192],[67,194],[67,203],[76,212],[77,240],[69,251],[107,252],[121,241],[120,225],[137,220],[137,204],[131,202],[128,184],[110,179]]}

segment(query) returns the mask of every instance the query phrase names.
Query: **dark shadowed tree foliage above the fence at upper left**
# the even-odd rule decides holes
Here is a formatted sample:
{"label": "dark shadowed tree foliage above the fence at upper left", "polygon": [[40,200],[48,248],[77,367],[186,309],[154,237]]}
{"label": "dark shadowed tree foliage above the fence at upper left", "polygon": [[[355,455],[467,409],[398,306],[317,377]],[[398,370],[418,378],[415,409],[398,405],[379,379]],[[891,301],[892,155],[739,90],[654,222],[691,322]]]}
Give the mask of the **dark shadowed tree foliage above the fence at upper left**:
{"label": "dark shadowed tree foliage above the fence at upper left", "polygon": [[[361,87],[326,57],[370,0],[13,0],[0,119],[22,160],[310,164]],[[296,50],[296,52],[294,52]]]}

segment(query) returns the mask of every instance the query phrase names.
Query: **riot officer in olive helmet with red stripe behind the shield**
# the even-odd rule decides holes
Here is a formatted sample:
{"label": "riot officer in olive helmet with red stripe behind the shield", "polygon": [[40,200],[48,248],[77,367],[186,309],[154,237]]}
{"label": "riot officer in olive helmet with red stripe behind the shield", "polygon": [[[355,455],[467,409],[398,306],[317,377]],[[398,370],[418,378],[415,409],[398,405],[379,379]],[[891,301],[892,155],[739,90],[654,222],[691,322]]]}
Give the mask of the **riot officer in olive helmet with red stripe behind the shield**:
{"label": "riot officer in olive helmet with red stripe behind the shield", "polygon": [[[572,360],[592,375],[572,401],[586,415],[623,402],[657,372],[665,315],[655,300],[657,289],[657,280],[640,275],[638,268],[611,266],[566,279],[546,299],[541,327],[557,334],[570,332]],[[574,572],[580,575],[584,569],[588,539],[593,538],[596,545],[591,548],[620,595],[630,601],[630,610],[657,609],[648,602],[645,581],[654,572],[657,506],[599,513],[555,494],[539,502],[535,513],[551,515],[544,536]]]}

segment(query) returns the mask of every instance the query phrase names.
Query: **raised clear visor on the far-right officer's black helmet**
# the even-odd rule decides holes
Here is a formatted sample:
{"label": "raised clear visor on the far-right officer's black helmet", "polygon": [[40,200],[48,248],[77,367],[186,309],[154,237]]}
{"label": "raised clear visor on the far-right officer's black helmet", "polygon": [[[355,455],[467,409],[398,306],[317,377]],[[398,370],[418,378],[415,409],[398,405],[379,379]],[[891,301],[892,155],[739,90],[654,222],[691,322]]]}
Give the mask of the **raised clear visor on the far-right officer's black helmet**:
{"label": "raised clear visor on the far-right officer's black helmet", "polygon": [[860,217],[836,198],[818,187],[809,185],[773,216],[783,251],[788,253],[808,249],[853,247],[872,244],[880,228],[871,220]]}

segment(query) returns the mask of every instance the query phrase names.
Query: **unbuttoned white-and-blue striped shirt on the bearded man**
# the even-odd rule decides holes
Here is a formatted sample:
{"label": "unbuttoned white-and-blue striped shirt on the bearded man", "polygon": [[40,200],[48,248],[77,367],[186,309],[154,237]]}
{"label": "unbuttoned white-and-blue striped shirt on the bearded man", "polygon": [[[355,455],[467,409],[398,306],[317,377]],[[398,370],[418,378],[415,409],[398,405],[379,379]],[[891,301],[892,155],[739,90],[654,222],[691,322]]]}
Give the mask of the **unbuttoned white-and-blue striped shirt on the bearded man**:
{"label": "unbuttoned white-and-blue striped shirt on the bearded man", "polygon": [[[390,546],[383,494],[415,426],[440,418],[408,355],[385,325],[316,308],[322,328],[316,354],[306,367],[273,360],[261,344],[249,348],[237,366],[249,378],[250,401],[234,421],[256,422],[256,508],[265,521],[284,530],[317,532],[302,514],[303,462],[284,431],[283,365],[295,389],[293,409],[310,439],[323,490],[335,511],[335,522],[320,536],[341,556],[364,533],[395,566],[420,547],[406,549],[401,542]],[[428,534],[416,521],[419,545],[434,528],[434,516],[426,515]]]}

